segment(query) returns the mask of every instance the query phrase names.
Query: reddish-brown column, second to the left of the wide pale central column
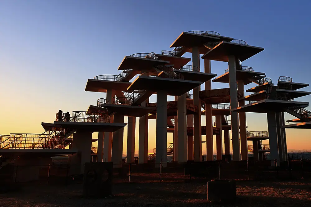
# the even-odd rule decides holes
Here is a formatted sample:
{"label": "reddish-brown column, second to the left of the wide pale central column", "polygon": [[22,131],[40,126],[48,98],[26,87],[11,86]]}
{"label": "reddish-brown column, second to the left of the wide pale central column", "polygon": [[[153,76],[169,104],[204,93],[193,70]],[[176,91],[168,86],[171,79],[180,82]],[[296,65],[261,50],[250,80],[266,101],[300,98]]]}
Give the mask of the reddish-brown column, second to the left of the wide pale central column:
{"label": "reddish-brown column, second to the left of the wide pale central column", "polygon": [[135,126],[136,117],[128,117],[128,140],[126,145],[126,162],[135,162]]}

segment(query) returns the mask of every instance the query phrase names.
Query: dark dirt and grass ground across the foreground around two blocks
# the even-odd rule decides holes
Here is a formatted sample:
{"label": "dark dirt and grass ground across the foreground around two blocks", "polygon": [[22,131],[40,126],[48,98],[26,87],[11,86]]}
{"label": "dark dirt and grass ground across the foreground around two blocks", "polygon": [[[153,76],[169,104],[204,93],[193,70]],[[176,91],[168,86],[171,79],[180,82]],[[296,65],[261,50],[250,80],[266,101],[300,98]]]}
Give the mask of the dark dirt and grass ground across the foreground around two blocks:
{"label": "dark dirt and grass ground across the foreground around two blocks", "polygon": [[237,181],[235,204],[207,202],[207,184],[186,182],[114,183],[112,197],[82,197],[82,185],[27,184],[19,191],[0,194],[0,206],[311,206],[311,184],[298,182]]}

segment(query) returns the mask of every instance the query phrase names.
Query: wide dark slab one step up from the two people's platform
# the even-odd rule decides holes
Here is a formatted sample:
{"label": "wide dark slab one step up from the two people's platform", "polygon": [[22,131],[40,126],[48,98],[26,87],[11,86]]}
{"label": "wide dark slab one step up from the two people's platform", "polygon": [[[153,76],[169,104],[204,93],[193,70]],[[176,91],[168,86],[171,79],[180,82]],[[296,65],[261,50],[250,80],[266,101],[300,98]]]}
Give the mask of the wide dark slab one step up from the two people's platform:
{"label": "wide dark slab one step up from the two people's platform", "polygon": [[98,106],[89,106],[89,110],[91,111],[104,111],[104,108],[115,112],[116,114],[121,114],[124,116],[135,116],[142,117],[146,114],[151,113],[151,111],[155,110],[154,107],[146,107],[146,106],[127,106],[127,105],[118,105],[118,104],[101,104],[101,107]]}

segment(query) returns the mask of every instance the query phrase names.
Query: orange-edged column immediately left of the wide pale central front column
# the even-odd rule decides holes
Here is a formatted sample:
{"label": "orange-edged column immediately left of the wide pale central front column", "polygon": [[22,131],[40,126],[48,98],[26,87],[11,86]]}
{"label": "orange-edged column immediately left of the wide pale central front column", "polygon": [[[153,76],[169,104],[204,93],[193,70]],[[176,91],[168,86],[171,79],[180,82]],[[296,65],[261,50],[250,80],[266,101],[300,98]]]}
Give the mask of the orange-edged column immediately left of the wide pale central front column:
{"label": "orange-edged column immediately left of the wide pale central front column", "polygon": [[[142,106],[149,103],[149,98],[142,102]],[[147,163],[148,161],[148,114],[139,118],[139,137],[138,137],[138,163]]]}

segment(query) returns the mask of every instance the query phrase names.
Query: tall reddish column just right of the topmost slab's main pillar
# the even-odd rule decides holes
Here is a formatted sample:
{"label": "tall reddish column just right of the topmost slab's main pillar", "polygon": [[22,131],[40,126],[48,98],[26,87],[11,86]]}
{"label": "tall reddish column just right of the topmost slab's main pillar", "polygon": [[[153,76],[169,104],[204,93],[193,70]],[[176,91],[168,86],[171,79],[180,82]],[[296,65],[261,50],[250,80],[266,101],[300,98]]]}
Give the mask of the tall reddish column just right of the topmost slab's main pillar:
{"label": "tall reddish column just right of the topmost slab's main pillar", "polygon": [[[204,60],[204,72],[211,73],[211,60]],[[211,80],[204,83],[205,90],[211,90]],[[213,143],[213,115],[212,105],[205,104],[205,123],[206,123],[206,159],[214,160]]]}

